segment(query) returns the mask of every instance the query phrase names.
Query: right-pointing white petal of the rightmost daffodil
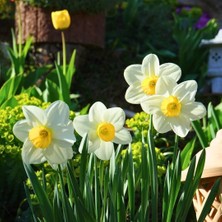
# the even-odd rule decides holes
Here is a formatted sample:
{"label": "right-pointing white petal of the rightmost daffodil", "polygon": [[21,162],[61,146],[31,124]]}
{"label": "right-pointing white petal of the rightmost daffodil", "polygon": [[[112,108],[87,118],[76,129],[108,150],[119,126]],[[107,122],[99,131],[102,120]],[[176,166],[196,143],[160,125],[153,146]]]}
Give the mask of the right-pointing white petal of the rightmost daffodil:
{"label": "right-pointing white petal of the rightmost daffodil", "polygon": [[202,103],[192,102],[182,106],[184,113],[191,121],[201,119],[206,115],[206,108]]}

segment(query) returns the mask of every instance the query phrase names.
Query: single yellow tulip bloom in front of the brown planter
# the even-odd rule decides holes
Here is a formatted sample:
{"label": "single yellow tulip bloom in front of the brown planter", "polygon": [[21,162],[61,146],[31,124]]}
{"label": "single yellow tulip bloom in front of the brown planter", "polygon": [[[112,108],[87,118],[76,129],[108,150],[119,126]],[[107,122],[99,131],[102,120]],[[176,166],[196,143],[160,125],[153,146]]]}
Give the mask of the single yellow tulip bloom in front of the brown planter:
{"label": "single yellow tulip bloom in front of the brown planter", "polygon": [[69,12],[66,9],[52,12],[51,18],[52,24],[56,30],[67,29],[71,24],[71,18]]}

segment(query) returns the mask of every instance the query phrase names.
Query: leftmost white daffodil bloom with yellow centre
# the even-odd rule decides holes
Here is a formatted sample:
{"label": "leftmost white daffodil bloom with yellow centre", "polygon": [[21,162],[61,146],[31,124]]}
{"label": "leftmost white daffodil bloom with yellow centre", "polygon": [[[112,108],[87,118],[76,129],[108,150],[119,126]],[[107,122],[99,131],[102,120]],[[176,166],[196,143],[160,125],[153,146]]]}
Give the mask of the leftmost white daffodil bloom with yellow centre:
{"label": "leftmost white daffodil bloom with yellow centre", "polygon": [[62,101],[52,103],[43,110],[37,106],[23,106],[24,120],[18,121],[13,133],[24,144],[22,159],[27,164],[45,161],[56,168],[73,157],[72,145],[76,141],[69,107]]}

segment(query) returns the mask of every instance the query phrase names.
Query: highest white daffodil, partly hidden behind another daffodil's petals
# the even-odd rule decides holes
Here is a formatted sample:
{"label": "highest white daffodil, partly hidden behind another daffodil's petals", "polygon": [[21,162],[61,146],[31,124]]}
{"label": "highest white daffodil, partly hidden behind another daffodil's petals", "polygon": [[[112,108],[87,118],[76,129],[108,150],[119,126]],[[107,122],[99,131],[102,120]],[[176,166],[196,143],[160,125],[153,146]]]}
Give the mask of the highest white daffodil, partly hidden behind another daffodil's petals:
{"label": "highest white daffodil, partly hidden behind another daffodil's petals", "polygon": [[129,87],[125,94],[127,102],[140,104],[146,98],[158,94],[156,86],[159,80],[169,78],[177,82],[181,77],[181,69],[173,63],[159,65],[159,59],[154,54],[147,55],[142,65],[130,65],[124,71],[124,78]]}

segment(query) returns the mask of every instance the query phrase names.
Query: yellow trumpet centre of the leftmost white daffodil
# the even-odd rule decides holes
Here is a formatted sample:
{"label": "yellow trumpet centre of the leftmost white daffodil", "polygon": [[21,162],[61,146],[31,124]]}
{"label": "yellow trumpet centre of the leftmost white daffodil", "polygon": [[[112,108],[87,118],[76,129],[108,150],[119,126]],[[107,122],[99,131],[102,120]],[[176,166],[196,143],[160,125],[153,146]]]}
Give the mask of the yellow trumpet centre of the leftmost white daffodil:
{"label": "yellow trumpet centre of the leftmost white daffodil", "polygon": [[52,132],[45,126],[37,126],[29,131],[29,139],[36,148],[47,148],[52,141]]}

